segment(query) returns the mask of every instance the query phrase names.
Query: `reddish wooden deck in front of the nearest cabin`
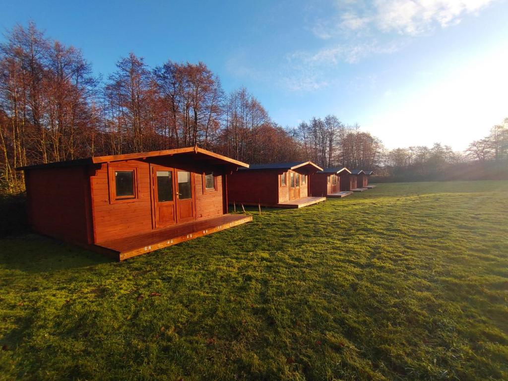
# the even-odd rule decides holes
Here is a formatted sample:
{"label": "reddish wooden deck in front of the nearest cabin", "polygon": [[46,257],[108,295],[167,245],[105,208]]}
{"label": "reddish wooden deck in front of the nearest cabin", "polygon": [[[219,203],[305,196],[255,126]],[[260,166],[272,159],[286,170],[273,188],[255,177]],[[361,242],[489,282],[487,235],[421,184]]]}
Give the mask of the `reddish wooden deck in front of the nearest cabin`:
{"label": "reddish wooden deck in front of the nearest cabin", "polygon": [[108,249],[117,260],[123,261],[144,254],[145,252],[176,245],[180,242],[229,229],[250,221],[252,221],[251,215],[225,214],[219,217],[192,221],[190,223],[180,224],[150,233],[100,242],[97,243],[96,246]]}

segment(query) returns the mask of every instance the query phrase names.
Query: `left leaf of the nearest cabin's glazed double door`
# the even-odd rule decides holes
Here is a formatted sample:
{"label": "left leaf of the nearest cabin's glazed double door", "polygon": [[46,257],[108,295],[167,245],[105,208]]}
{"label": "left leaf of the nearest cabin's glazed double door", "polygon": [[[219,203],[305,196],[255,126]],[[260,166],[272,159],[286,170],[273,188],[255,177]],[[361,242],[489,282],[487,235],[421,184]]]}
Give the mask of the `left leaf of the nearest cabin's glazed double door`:
{"label": "left leaf of the nearest cabin's glazed double door", "polygon": [[173,168],[152,167],[155,227],[176,223]]}

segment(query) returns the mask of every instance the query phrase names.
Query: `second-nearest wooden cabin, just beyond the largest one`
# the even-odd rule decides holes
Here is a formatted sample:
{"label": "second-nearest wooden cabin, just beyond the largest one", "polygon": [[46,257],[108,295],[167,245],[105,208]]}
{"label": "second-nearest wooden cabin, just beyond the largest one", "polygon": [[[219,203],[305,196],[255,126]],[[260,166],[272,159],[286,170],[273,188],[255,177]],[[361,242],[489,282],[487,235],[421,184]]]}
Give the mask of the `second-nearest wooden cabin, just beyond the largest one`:
{"label": "second-nearest wooden cabin, just beyond the largest one", "polygon": [[311,162],[252,164],[228,175],[228,199],[236,205],[301,208],[325,201],[311,197],[309,176],[323,169]]}

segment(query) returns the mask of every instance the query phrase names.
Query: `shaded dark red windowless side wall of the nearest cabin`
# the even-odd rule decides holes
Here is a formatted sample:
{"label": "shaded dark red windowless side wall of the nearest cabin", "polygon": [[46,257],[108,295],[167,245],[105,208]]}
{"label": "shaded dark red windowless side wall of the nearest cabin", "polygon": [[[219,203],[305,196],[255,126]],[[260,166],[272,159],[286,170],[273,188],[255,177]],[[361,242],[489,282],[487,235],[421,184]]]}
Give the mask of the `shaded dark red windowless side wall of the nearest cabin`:
{"label": "shaded dark red windowless side wall of the nearest cabin", "polygon": [[27,213],[35,232],[75,243],[92,243],[86,167],[25,171]]}

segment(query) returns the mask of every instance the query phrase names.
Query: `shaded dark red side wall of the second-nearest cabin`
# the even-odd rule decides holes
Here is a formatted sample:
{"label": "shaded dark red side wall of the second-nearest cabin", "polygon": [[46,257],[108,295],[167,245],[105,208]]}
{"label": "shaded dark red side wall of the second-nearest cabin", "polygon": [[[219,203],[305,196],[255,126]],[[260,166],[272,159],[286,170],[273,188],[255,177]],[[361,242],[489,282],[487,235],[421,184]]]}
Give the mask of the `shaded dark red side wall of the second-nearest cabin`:
{"label": "shaded dark red side wall of the second-nearest cabin", "polygon": [[228,202],[275,205],[279,176],[271,170],[238,170],[228,175]]}

